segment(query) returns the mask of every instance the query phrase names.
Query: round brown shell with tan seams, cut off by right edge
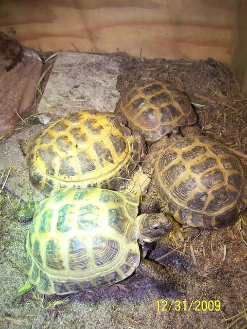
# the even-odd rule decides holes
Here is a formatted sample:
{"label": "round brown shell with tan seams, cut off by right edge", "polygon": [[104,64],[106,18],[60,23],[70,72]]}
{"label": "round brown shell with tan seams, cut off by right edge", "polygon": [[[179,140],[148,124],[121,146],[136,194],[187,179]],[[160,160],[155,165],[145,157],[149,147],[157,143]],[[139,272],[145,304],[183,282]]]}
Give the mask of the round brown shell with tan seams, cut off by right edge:
{"label": "round brown shell with tan seams, cut off by right edge", "polygon": [[182,224],[224,226],[233,223],[247,205],[241,163],[225,145],[202,135],[168,145],[153,177],[166,211]]}

